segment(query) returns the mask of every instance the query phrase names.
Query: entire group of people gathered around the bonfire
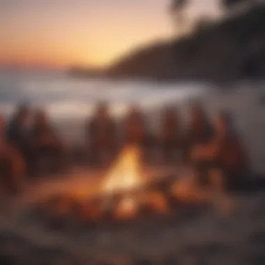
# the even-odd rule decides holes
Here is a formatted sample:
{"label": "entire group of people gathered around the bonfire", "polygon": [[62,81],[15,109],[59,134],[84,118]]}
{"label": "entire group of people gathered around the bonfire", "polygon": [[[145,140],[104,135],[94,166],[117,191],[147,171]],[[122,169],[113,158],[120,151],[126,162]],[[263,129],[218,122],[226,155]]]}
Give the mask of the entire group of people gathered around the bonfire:
{"label": "entire group of people gathered around the bonfire", "polygon": [[[222,172],[227,183],[249,169],[248,154],[228,113],[220,112],[212,124],[202,106],[192,105],[188,116],[188,128],[184,130],[176,109],[166,107],[158,134],[154,135],[139,108],[130,107],[119,130],[107,104],[100,103],[86,121],[84,149],[91,164],[97,165],[104,158],[114,158],[122,146],[137,144],[144,153],[158,151],[165,163],[191,165],[202,185],[209,181],[211,169]],[[0,139],[1,180],[11,191],[21,187],[25,176],[37,174],[45,160],[50,161],[47,165],[54,171],[69,162],[66,146],[43,110],[33,113],[21,106],[9,122],[1,118]]]}

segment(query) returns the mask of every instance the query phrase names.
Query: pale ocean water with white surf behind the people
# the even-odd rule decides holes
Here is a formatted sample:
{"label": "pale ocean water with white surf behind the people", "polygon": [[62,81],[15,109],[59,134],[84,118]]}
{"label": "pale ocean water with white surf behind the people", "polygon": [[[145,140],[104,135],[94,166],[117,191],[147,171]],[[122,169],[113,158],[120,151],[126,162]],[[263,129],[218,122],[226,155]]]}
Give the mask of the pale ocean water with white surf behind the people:
{"label": "pale ocean water with white surf behind the people", "polygon": [[[84,121],[98,102],[106,101],[114,118],[119,119],[130,104],[137,104],[158,122],[158,109],[166,103],[183,103],[204,93],[205,84],[162,84],[156,82],[112,81],[75,78],[54,72],[0,72],[0,112],[10,116],[20,103],[42,108],[63,137],[82,142]],[[156,114],[155,114],[156,112]],[[150,121],[152,117],[150,117]]]}

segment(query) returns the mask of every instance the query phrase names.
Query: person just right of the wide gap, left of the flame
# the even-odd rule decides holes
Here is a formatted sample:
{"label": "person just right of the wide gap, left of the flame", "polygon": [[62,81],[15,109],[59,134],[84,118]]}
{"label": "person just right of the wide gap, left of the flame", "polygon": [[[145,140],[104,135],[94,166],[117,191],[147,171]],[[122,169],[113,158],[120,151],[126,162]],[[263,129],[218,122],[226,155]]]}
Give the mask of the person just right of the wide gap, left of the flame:
{"label": "person just right of the wide gap, left of the flame", "polygon": [[116,124],[109,115],[107,104],[100,103],[91,121],[86,123],[86,141],[94,165],[103,165],[114,156],[118,149],[116,133]]}

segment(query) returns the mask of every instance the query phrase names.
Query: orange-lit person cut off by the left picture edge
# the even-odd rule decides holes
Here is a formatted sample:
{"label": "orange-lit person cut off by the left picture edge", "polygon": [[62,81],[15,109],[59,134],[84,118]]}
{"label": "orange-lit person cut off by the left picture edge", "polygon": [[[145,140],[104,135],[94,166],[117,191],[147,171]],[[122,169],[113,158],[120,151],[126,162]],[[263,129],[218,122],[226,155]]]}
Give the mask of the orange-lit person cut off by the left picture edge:
{"label": "orange-lit person cut off by the left picture edge", "polygon": [[0,178],[5,191],[20,192],[25,177],[25,162],[21,153],[6,140],[6,122],[0,116]]}

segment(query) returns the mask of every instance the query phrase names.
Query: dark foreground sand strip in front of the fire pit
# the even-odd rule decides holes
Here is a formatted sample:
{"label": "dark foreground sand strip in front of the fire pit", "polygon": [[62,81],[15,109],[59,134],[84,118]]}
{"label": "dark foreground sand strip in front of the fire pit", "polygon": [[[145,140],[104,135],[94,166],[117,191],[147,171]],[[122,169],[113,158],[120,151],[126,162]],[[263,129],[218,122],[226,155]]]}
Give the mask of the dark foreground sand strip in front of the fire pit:
{"label": "dark foreground sand strip in front of the fire pit", "polygon": [[[69,256],[73,259],[69,264],[77,260],[80,264],[98,264],[101,260],[130,264],[139,259],[165,264],[165,259],[187,256],[196,262],[205,259],[206,264],[264,264],[264,199],[262,193],[234,195],[236,211],[229,215],[204,209],[177,216],[164,225],[151,222],[102,231],[52,232],[38,225],[1,220],[1,252],[20,261],[46,259],[45,264],[56,264],[54,259],[63,262]],[[255,259],[259,261],[255,263]]]}

